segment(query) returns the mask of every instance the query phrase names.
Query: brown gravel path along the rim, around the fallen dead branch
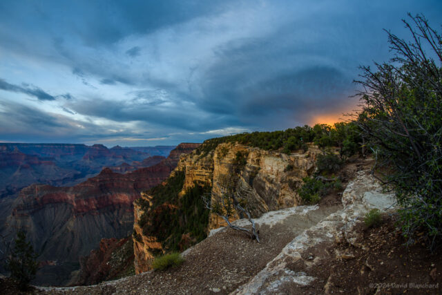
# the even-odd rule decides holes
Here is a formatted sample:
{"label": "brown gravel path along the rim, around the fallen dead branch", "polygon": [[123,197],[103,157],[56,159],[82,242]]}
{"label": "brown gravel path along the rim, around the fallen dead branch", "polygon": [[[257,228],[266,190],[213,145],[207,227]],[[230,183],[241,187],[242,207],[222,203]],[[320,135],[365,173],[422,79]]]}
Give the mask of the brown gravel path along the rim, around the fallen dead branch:
{"label": "brown gravel path along the rim, around the fallen dead branch", "polygon": [[176,269],[88,287],[40,287],[38,293],[228,294],[260,272],[298,234],[340,208],[301,206],[269,212],[256,220],[260,244],[238,231],[224,229],[186,251],[186,262]]}

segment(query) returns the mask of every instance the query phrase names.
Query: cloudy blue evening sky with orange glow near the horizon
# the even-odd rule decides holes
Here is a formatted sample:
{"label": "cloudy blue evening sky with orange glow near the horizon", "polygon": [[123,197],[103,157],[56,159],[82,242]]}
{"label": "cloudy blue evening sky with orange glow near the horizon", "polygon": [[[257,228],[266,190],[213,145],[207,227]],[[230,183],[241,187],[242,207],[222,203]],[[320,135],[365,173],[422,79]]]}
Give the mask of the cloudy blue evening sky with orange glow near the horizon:
{"label": "cloudy blue evening sky with orange glow near the horizon", "polygon": [[[383,29],[442,1],[0,1],[0,142],[174,145],[357,110]],[[441,32],[442,30],[439,30]]]}

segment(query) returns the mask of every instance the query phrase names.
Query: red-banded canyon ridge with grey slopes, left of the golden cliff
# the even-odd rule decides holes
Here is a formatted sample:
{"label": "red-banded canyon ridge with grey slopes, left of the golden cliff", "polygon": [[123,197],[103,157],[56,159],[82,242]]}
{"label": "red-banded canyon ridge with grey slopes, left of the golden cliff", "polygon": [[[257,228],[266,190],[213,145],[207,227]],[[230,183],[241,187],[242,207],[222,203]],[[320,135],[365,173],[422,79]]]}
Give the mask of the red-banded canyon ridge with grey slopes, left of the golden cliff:
{"label": "red-banded canyon ridge with grey slopes, left of the golden cliff", "polygon": [[[120,174],[103,169],[99,175],[73,187],[33,184],[19,193],[3,231],[24,229],[39,253],[39,260],[56,260],[61,268],[75,270],[102,238],[123,238],[133,231],[133,201],[140,193],[162,183],[175,169],[181,153],[191,144],[177,146],[169,158],[136,171]],[[57,267],[52,267],[52,273]],[[41,270],[45,272],[47,269]],[[41,283],[66,283],[61,278],[37,276]]]}

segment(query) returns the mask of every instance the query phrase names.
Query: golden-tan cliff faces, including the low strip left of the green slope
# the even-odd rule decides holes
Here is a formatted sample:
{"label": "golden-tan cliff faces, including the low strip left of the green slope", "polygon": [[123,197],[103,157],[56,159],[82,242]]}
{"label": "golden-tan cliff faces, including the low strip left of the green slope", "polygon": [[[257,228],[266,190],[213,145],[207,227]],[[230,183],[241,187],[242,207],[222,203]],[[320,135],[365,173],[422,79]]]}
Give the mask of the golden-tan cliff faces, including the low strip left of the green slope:
{"label": "golden-tan cliff faces, including the low strip left of the green slope", "polygon": [[[223,143],[206,153],[197,149],[182,155],[171,176],[184,171],[185,180],[180,196],[195,184],[209,184],[213,198],[233,184],[236,195],[247,200],[253,218],[258,218],[265,212],[294,207],[300,203],[296,191],[302,184],[302,178],[314,172],[319,153],[320,150],[313,145],[305,152],[287,155],[242,144]],[[144,195],[142,198],[152,204],[155,197]],[[155,237],[144,236],[138,225],[142,207],[135,202],[134,208],[135,272],[139,274],[149,269],[149,260],[155,251],[162,251],[162,246]],[[238,219],[238,216],[233,219]],[[224,225],[224,220],[211,214],[206,230]]]}

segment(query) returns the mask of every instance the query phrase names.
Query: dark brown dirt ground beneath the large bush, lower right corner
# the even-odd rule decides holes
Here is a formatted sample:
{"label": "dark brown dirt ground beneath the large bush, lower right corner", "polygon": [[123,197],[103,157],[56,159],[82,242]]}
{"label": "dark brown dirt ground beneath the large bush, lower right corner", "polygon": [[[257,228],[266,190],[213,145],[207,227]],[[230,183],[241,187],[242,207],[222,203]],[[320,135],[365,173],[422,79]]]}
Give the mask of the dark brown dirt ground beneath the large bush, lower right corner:
{"label": "dark brown dirt ground beneath the large bush, lower right corner", "polygon": [[[354,245],[336,242],[309,249],[320,256],[307,274],[309,286],[287,289],[288,294],[442,294],[442,253],[428,249],[423,239],[406,247],[395,216],[383,216],[380,227],[356,227]],[[294,272],[298,265],[289,265]]]}

